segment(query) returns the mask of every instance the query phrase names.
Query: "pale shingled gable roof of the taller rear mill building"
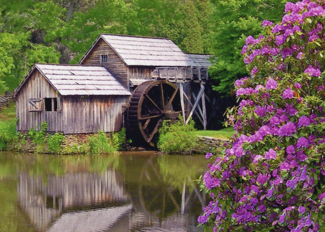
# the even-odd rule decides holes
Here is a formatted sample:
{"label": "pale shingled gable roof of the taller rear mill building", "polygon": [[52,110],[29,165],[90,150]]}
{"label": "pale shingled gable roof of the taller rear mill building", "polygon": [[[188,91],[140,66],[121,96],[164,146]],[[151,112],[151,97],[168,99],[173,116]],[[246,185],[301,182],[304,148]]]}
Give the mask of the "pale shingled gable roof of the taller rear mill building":
{"label": "pale shingled gable roof of the taller rear mill building", "polygon": [[126,65],[132,66],[197,66],[173,41],[168,38],[154,38],[131,35],[100,34],[89,48],[81,64],[97,42],[103,39]]}

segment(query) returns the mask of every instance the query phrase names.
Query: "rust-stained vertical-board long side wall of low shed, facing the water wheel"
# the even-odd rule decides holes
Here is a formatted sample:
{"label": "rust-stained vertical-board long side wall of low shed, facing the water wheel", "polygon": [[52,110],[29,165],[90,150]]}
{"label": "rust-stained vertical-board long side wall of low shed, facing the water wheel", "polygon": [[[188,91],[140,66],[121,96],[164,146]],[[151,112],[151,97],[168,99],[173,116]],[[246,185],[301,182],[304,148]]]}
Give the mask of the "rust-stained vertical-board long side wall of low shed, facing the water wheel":
{"label": "rust-stained vertical-board long side wall of low shed, facing the water wheel", "polygon": [[122,128],[122,107],[129,96],[65,96],[62,102],[65,134],[116,132]]}

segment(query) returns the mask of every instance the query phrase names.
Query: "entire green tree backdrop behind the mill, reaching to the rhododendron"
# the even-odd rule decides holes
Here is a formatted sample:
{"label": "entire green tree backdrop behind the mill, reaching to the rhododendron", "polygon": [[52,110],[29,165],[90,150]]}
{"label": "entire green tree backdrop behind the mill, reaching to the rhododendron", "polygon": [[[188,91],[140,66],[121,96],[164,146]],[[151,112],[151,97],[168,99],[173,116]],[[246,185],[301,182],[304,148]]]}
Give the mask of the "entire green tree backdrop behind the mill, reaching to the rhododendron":
{"label": "entire green tree backdrop behind the mill, reaching to the rhododendron", "polygon": [[99,33],[171,38],[185,52],[217,58],[215,89],[231,94],[246,75],[238,48],[260,20],[281,18],[285,0],[2,0],[0,93],[16,88],[34,62],[76,64]]}

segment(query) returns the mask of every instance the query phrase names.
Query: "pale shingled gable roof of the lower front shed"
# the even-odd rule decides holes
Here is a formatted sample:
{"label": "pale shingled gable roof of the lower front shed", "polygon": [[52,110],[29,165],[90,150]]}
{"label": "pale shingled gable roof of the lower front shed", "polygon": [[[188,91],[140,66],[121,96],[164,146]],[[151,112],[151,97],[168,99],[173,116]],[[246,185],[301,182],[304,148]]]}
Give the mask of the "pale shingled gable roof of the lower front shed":
{"label": "pale shingled gable roof of the lower front shed", "polygon": [[60,95],[131,95],[104,67],[91,65],[34,64],[15,95],[37,69]]}

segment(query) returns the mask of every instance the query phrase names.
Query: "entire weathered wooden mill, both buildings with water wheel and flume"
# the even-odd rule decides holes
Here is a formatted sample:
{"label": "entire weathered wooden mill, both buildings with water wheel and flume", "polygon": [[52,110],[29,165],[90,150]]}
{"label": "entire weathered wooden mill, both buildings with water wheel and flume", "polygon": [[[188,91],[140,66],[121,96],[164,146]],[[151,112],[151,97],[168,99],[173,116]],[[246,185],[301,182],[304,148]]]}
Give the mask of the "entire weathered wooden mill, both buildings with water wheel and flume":
{"label": "entire weathered wooden mill, both buildings with water wheel and flume", "polygon": [[125,118],[131,134],[150,142],[162,120],[178,114],[206,128],[209,57],[168,38],[100,34],[78,65],[32,67],[15,93],[17,130],[46,121],[50,132],[113,132]]}

